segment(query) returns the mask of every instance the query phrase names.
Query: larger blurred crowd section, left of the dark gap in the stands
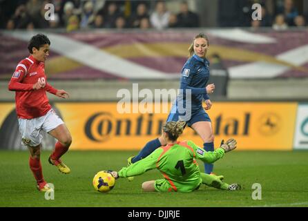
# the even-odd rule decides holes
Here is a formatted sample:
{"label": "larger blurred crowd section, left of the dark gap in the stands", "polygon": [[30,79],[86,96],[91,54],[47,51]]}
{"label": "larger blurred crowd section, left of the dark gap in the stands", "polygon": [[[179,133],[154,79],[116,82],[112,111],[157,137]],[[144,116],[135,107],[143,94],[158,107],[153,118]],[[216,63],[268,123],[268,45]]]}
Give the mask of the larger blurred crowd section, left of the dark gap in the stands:
{"label": "larger blurred crowd section, left of the dark gap in the stands", "polygon": [[[1,0],[0,0],[1,1]],[[165,1],[104,0],[17,0],[16,8],[3,27],[7,30],[33,28],[187,28],[199,27],[199,16],[179,1],[180,11],[170,12]],[[55,6],[55,17],[46,20],[45,6]],[[3,21],[3,20],[2,20]]]}

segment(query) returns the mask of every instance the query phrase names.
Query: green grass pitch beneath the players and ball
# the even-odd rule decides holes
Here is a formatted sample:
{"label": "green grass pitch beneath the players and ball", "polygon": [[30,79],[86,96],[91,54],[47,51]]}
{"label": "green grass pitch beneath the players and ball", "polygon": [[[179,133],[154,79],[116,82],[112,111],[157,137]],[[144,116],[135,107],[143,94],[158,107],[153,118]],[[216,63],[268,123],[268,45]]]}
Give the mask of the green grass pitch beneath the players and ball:
{"label": "green grass pitch beneath the players and ball", "polygon": [[[27,151],[0,151],[0,206],[104,206],[104,207],[207,207],[207,206],[308,206],[308,151],[234,151],[215,163],[215,173],[228,183],[242,184],[241,191],[221,191],[201,186],[192,193],[143,193],[142,182],[160,179],[157,170],[116,181],[109,193],[94,191],[98,171],[119,170],[137,151],[69,151],[64,162],[72,173],[59,173],[48,164],[50,152],[41,153],[44,178],[55,185],[55,199],[46,200],[36,189]],[[198,162],[203,171],[202,162]],[[262,200],[253,200],[262,186]]]}

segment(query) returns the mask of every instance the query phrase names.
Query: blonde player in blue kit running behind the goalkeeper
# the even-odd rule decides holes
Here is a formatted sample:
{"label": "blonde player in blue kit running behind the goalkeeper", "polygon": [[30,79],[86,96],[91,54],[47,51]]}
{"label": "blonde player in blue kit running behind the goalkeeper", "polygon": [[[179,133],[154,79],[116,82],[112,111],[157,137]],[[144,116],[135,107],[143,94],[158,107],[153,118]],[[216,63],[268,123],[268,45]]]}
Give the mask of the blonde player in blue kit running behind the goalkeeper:
{"label": "blonde player in blue kit running behind the goalkeeper", "polygon": [[[182,68],[182,76],[180,79],[180,90],[182,94],[177,96],[171,113],[166,122],[185,121],[186,125],[200,135],[204,142],[205,151],[214,151],[214,135],[209,115],[204,111],[209,110],[212,106],[209,94],[215,89],[214,84],[209,84],[209,61],[206,59],[206,52],[209,49],[209,39],[206,35],[200,33],[193,38],[193,42],[189,47],[189,59]],[[190,93],[190,95],[188,95]],[[206,107],[203,108],[202,102]],[[155,151],[156,148],[164,146],[163,137],[148,142],[138,155],[129,157],[128,166],[134,164]],[[213,172],[213,164],[204,163],[205,173]],[[133,177],[130,177],[132,180]]]}

